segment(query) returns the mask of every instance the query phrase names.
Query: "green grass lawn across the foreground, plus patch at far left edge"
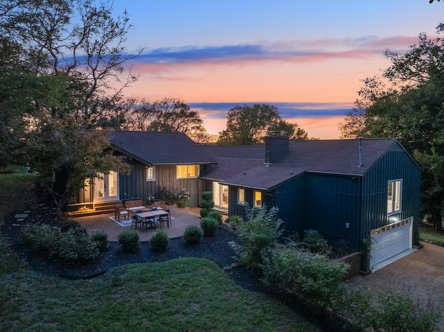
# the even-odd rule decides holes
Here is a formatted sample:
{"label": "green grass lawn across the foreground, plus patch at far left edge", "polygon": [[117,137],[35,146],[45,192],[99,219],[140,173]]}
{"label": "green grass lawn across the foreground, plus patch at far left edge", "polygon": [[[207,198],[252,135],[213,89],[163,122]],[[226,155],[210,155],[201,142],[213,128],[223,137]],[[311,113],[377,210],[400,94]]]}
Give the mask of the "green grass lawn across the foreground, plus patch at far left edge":
{"label": "green grass lawn across the foreground, plus patch at far left edge", "polygon": [[[32,185],[32,175],[0,175],[1,222],[35,204]],[[0,236],[0,278],[0,331],[318,331],[205,259],[123,265],[69,280],[29,270]]]}

